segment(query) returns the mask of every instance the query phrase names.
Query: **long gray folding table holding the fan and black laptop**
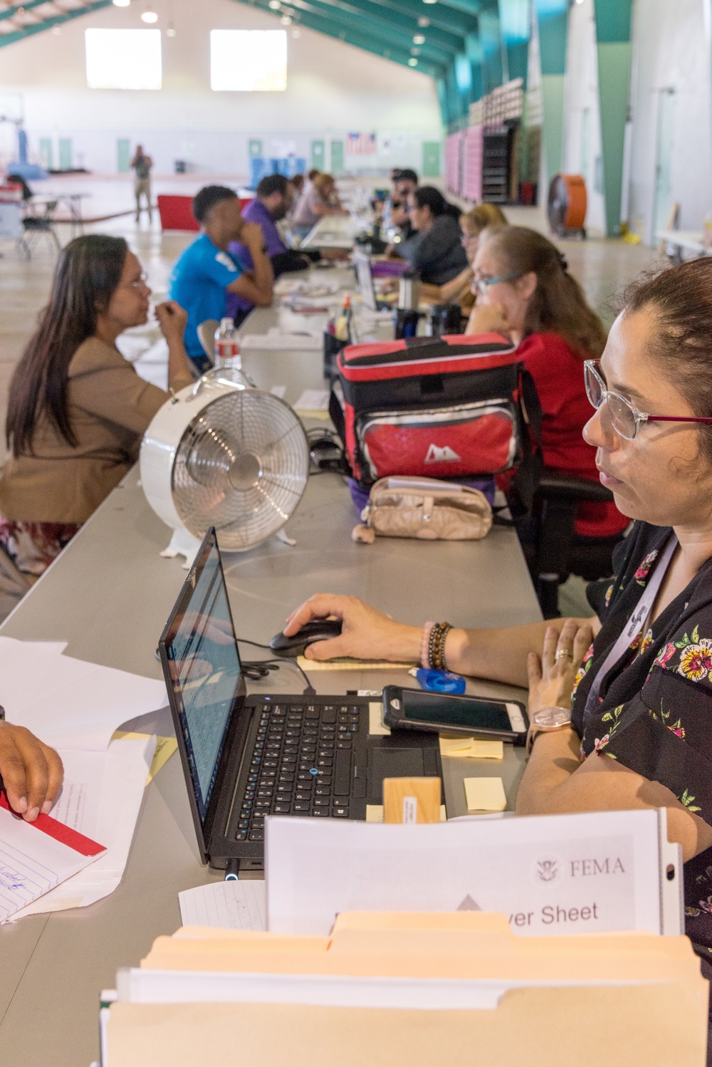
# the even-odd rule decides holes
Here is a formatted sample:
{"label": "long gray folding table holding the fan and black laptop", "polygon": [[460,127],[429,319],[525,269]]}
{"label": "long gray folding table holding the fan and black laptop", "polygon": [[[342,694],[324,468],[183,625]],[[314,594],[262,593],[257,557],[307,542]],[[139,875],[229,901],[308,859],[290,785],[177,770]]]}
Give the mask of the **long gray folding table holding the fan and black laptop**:
{"label": "long gray folding table holding the fan and black laptop", "polygon": [[[274,310],[247,325],[269,328]],[[261,324],[261,325],[260,325]],[[323,387],[320,351],[252,350],[247,371],[262,388],[287,385],[294,402],[304,387]],[[309,480],[287,525],[293,547],[276,539],[225,556],[240,637],[264,642],[288,611],[313,592],[358,594],[412,624],[448,619],[466,626],[500,626],[539,619],[516,535],[497,527],[481,542],[421,543],[351,540],[357,521],[344,481],[334,474]],[[137,469],[104,500],[45,573],[1,633],[25,640],[66,640],[67,654],[160,678],[155,650],[185,577],[180,559],[159,556],[168,528],[148,507]],[[242,647],[243,657],[259,651]],[[415,684],[402,670],[313,671],[319,692]],[[2,682],[0,680],[0,700]],[[255,689],[301,692],[290,666]],[[470,682],[487,695],[520,690]],[[172,731],[166,711],[139,729]],[[503,763],[444,761],[450,815],[466,810],[462,779],[496,775],[512,805],[523,767],[521,749],[505,746]],[[135,966],[161,934],[180,925],[178,892],[219,877],[201,865],[179,760],[174,757],[146,789],[126,872],[118,889],[88,908],[32,915],[0,927],[0,1063],[22,1067],[88,1067],[98,1054],[98,997],[117,967]]]}

